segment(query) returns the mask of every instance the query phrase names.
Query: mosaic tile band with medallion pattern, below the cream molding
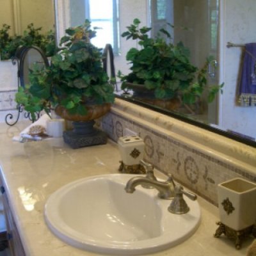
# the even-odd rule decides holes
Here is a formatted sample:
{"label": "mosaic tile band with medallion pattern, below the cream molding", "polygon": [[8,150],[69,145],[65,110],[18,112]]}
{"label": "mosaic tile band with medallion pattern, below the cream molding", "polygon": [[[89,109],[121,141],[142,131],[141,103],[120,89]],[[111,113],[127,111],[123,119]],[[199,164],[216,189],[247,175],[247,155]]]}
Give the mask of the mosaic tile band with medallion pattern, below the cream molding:
{"label": "mosaic tile band with medallion pattern, below the cream molding", "polygon": [[231,163],[212,157],[204,150],[170,138],[155,129],[141,125],[117,113],[108,113],[102,118],[102,129],[109,138],[117,141],[129,128],[143,138],[145,159],[164,173],[172,173],[177,182],[195,191],[214,205],[218,204],[217,186],[220,182],[243,177],[256,182],[256,175],[241,170]]}

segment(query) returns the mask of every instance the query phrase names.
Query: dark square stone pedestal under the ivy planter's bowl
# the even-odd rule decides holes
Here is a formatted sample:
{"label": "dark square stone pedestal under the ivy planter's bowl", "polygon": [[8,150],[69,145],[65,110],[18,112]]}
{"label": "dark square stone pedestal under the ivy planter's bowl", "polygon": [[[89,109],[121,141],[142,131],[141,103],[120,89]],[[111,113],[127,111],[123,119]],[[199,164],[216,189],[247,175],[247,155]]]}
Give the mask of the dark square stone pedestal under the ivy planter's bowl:
{"label": "dark square stone pedestal under the ivy planter's bowl", "polygon": [[93,145],[103,145],[107,143],[108,136],[105,132],[93,127],[93,120],[86,122],[73,122],[72,131],[63,132],[65,143],[72,148],[88,147]]}

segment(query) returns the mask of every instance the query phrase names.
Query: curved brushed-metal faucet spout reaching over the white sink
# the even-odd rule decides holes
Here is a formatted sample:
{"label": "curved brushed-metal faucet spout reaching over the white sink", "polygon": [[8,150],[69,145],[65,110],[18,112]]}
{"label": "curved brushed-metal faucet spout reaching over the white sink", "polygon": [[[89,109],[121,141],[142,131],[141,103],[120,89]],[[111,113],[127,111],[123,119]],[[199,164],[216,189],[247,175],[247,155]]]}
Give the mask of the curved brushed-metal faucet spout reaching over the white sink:
{"label": "curved brushed-metal faucet spout reaching over the white sink", "polygon": [[172,199],[175,196],[173,182],[161,182],[158,180],[151,180],[147,177],[140,176],[130,179],[125,186],[125,191],[127,193],[134,193],[134,191],[136,190],[135,188],[138,185],[150,185],[156,188],[159,191],[158,196],[163,199]]}

